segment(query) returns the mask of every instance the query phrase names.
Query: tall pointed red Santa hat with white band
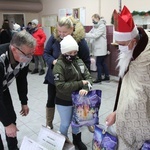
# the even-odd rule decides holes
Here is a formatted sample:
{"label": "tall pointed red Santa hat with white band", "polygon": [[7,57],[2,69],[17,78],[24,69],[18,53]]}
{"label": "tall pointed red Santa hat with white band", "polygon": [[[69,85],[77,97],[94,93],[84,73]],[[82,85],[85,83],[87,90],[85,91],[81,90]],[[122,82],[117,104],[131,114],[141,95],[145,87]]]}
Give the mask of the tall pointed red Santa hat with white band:
{"label": "tall pointed red Santa hat with white band", "polygon": [[126,6],[121,13],[113,12],[114,16],[114,39],[116,41],[129,41],[138,35],[137,27],[134,24],[132,14]]}

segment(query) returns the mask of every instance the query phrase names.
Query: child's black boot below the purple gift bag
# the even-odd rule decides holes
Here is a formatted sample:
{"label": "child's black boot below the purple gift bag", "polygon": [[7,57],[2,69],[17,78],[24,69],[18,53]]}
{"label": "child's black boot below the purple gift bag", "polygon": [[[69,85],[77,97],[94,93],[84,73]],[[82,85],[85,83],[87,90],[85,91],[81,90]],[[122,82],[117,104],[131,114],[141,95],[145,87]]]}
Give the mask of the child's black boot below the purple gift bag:
{"label": "child's black boot below the purple gift bag", "polygon": [[73,144],[75,145],[76,148],[79,150],[87,150],[86,145],[82,142],[81,140],[81,132],[76,134],[72,134],[73,136]]}

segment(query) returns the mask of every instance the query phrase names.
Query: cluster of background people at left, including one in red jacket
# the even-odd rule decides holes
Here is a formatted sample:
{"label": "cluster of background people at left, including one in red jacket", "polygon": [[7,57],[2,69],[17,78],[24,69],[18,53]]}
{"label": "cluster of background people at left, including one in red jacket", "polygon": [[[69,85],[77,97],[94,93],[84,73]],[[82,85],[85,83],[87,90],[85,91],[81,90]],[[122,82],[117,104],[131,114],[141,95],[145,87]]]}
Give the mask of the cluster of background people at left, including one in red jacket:
{"label": "cluster of background people at left, including one in red jacket", "polygon": [[29,72],[31,74],[39,73],[39,75],[45,74],[45,62],[43,59],[44,52],[44,43],[46,41],[46,34],[44,33],[39,21],[33,19],[31,22],[28,22],[26,27],[21,27],[18,23],[13,24],[13,28],[10,28],[9,21],[6,19],[0,30],[0,44],[10,43],[12,36],[16,32],[25,30],[30,33],[36,39],[36,48],[33,55],[33,62],[35,64],[34,69]]}

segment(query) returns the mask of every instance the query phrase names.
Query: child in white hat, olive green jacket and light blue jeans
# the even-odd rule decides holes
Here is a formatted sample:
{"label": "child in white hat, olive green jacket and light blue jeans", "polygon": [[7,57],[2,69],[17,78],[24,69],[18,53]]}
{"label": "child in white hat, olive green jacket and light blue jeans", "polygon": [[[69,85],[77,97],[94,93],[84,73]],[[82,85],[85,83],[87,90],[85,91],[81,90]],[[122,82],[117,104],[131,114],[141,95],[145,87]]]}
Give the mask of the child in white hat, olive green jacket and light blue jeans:
{"label": "child in white hat, olive green jacket and light blue jeans", "polygon": [[[68,128],[72,120],[72,92],[79,90],[80,95],[88,93],[88,83],[92,84],[92,77],[81,59],[77,56],[78,44],[71,35],[64,37],[60,42],[61,53],[54,66],[53,74],[56,85],[56,99],[61,123],[61,134],[68,137]],[[79,127],[72,127],[73,144],[78,149],[87,150],[81,140]]]}

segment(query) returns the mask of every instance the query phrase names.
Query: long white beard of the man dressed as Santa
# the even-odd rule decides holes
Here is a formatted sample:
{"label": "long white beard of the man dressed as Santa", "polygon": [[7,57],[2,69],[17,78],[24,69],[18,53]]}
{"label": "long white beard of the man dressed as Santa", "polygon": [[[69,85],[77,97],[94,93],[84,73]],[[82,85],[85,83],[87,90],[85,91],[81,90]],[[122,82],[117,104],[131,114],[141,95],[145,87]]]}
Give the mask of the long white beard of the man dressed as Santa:
{"label": "long white beard of the man dressed as Santa", "polygon": [[128,69],[129,63],[132,59],[133,50],[129,50],[128,52],[120,52],[118,56],[118,65],[119,68],[119,77],[123,77],[125,71]]}

